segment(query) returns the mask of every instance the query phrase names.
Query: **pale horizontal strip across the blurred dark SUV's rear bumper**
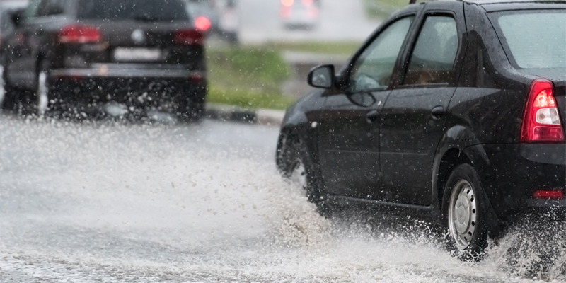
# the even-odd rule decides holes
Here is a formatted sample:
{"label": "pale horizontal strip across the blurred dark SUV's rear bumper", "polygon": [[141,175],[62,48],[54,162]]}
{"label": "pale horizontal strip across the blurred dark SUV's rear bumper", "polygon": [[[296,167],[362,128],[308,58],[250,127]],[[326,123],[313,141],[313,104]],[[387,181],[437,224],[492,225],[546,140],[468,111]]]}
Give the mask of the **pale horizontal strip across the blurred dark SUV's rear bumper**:
{"label": "pale horizontal strip across the blurred dark SUV's rear bumper", "polygon": [[53,78],[204,78],[204,71],[190,70],[178,64],[91,64],[89,68],[52,69]]}

